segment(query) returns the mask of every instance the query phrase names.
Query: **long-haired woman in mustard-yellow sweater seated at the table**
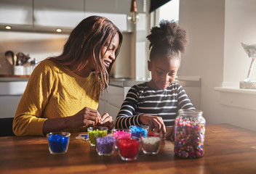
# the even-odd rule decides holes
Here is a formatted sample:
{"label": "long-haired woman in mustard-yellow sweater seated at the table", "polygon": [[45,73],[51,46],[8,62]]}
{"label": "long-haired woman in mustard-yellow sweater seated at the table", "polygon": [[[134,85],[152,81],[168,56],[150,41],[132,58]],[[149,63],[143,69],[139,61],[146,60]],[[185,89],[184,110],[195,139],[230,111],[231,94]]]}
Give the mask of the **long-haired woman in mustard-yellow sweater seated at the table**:
{"label": "long-haired woman in mustard-yellow sweater seated at the table", "polygon": [[121,31],[105,17],[82,20],[63,53],[45,59],[33,70],[15,113],[15,135],[79,132],[92,125],[112,129],[112,117],[107,113],[100,117],[96,109],[121,42]]}

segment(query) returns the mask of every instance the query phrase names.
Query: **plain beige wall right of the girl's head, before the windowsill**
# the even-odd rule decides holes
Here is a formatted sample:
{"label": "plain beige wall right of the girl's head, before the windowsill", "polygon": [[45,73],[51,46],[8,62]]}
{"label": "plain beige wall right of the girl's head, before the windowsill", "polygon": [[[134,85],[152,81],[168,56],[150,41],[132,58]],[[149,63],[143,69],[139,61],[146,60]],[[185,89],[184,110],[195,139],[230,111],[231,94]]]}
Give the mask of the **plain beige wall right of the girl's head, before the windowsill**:
{"label": "plain beige wall right of the girl's head, before the windowsill", "polygon": [[179,24],[188,31],[189,43],[179,77],[201,77],[200,108],[207,123],[221,123],[214,88],[223,82],[225,1],[180,0]]}

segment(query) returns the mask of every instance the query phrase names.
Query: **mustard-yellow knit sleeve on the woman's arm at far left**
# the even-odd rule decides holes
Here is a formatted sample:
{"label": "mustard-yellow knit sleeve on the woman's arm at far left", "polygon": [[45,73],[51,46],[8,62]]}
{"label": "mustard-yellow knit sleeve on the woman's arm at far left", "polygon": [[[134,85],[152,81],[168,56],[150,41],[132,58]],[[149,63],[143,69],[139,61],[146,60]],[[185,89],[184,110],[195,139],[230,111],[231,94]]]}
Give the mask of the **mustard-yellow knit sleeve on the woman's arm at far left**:
{"label": "mustard-yellow knit sleeve on the woman's arm at far left", "polygon": [[15,113],[12,129],[16,136],[44,135],[43,125],[47,118],[43,118],[42,113],[54,81],[47,62],[41,62],[33,70]]}

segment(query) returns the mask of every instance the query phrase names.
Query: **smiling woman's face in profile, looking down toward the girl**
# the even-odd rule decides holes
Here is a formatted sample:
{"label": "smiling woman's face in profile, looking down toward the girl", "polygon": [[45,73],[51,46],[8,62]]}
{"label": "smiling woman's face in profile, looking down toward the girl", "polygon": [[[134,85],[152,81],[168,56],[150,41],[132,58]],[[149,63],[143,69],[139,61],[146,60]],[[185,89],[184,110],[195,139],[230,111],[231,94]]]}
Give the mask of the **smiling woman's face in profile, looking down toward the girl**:
{"label": "smiling woman's face in profile, looking down toward the girl", "polygon": [[[108,45],[110,44],[109,48]],[[101,50],[101,54],[103,56],[103,61],[105,67],[108,69],[109,65],[113,62],[114,59],[116,59],[116,49],[119,47],[119,35],[116,33],[116,35],[113,37],[111,41],[111,37],[108,38],[107,42],[105,43],[105,46],[103,46],[103,49]]]}

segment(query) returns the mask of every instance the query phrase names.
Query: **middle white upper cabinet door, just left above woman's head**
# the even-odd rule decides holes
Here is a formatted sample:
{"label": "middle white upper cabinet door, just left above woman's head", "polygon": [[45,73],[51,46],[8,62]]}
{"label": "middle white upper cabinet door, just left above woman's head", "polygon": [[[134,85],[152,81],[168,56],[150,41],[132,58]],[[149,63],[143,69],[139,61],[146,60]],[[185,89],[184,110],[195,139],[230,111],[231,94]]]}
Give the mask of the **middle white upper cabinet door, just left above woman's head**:
{"label": "middle white upper cabinet door, just left above woman's head", "polygon": [[84,0],[34,0],[34,25],[74,28],[84,19]]}

